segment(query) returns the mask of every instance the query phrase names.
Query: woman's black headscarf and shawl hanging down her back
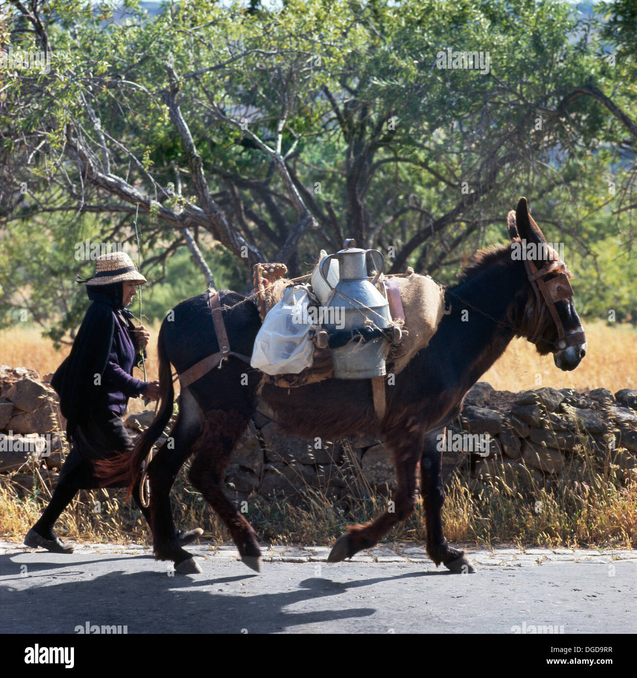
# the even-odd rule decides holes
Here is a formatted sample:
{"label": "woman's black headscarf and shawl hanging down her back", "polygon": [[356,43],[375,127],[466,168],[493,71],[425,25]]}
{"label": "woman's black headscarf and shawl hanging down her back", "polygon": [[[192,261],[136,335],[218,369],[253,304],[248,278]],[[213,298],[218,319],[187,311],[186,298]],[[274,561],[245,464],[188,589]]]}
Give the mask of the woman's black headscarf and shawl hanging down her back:
{"label": "woman's black headscarf and shawl hanging down her back", "polygon": [[[66,418],[69,439],[77,424],[85,422],[97,406],[102,394],[101,379],[113,342],[117,313],[129,326],[133,314],[122,305],[123,283],[87,285],[87,295],[93,302],[84,316],[73,347],[51,379],[51,386],[60,396],[60,410]],[[97,384],[95,383],[97,381]]]}

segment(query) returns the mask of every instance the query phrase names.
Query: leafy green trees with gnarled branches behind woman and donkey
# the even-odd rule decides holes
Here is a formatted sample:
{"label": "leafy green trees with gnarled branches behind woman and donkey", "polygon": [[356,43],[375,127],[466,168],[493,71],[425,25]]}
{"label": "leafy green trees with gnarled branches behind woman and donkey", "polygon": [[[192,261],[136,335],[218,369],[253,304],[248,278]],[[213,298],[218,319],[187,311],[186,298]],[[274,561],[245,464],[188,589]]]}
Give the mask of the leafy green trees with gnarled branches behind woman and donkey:
{"label": "leafy green trees with gnarled branches behind woman and donkey", "polygon": [[[7,75],[0,95],[7,229],[57,237],[95,215],[97,237],[130,241],[137,215],[150,264],[186,243],[196,255],[207,234],[245,281],[259,260],[304,273],[345,237],[380,247],[392,272],[446,280],[502,238],[523,194],[581,252],[616,231],[578,233],[581,205],[617,203],[600,176],[630,174],[623,76],[600,59],[600,25],[565,3],[188,0],[152,20],[133,1],[125,18],[13,5],[12,44],[53,59],[48,75]],[[489,64],[454,68],[458,52]]]}

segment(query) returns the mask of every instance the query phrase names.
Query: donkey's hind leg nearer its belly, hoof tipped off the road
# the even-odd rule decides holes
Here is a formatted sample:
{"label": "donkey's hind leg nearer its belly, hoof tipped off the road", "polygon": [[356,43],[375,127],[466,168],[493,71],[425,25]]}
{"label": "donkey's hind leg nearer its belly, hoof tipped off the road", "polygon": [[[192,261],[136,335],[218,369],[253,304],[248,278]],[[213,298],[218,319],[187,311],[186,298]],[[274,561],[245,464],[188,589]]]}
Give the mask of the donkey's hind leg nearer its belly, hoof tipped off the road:
{"label": "donkey's hind leg nearer its belly, hoof tipped off the road", "polygon": [[261,549],[252,526],[237,511],[223,491],[225,469],[232,451],[248,424],[249,414],[239,410],[206,412],[198,452],[190,467],[190,481],[228,528],[242,561],[259,572]]}

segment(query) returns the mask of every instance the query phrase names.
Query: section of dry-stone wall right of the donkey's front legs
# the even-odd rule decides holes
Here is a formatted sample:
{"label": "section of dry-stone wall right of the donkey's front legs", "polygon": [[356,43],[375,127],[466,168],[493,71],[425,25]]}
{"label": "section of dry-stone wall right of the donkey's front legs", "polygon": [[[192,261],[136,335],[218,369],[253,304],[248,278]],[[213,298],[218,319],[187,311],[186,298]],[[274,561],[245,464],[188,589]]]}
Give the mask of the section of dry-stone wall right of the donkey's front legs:
{"label": "section of dry-stone wall right of the donkey's front legs", "polygon": [[584,448],[622,475],[637,468],[637,391],[545,387],[510,393],[479,382],[463,405],[459,428],[492,437],[489,456],[470,455],[474,492],[496,476],[522,489],[550,485]]}

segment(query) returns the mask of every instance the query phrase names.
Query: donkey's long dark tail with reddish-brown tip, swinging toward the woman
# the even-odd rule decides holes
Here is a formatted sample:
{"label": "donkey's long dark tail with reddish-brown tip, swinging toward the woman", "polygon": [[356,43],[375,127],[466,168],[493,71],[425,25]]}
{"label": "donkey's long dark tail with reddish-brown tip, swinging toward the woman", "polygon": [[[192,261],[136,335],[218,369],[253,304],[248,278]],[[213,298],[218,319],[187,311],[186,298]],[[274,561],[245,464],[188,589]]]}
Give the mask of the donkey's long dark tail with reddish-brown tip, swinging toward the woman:
{"label": "donkey's long dark tail with reddish-brown tip, swinging toward the woman", "polygon": [[141,463],[150,452],[153,443],[160,437],[162,431],[168,424],[173,415],[173,402],[175,400],[175,389],[173,388],[173,375],[171,372],[171,363],[164,343],[164,327],[166,321],[162,323],[157,338],[157,353],[159,357],[159,400],[160,407],[154,420],[144,433],[142,433],[135,447],[125,454],[120,454],[113,460],[102,460],[95,462],[96,474],[98,477],[108,480],[112,483],[127,487],[127,495],[130,496],[135,487],[135,483],[141,477]]}

